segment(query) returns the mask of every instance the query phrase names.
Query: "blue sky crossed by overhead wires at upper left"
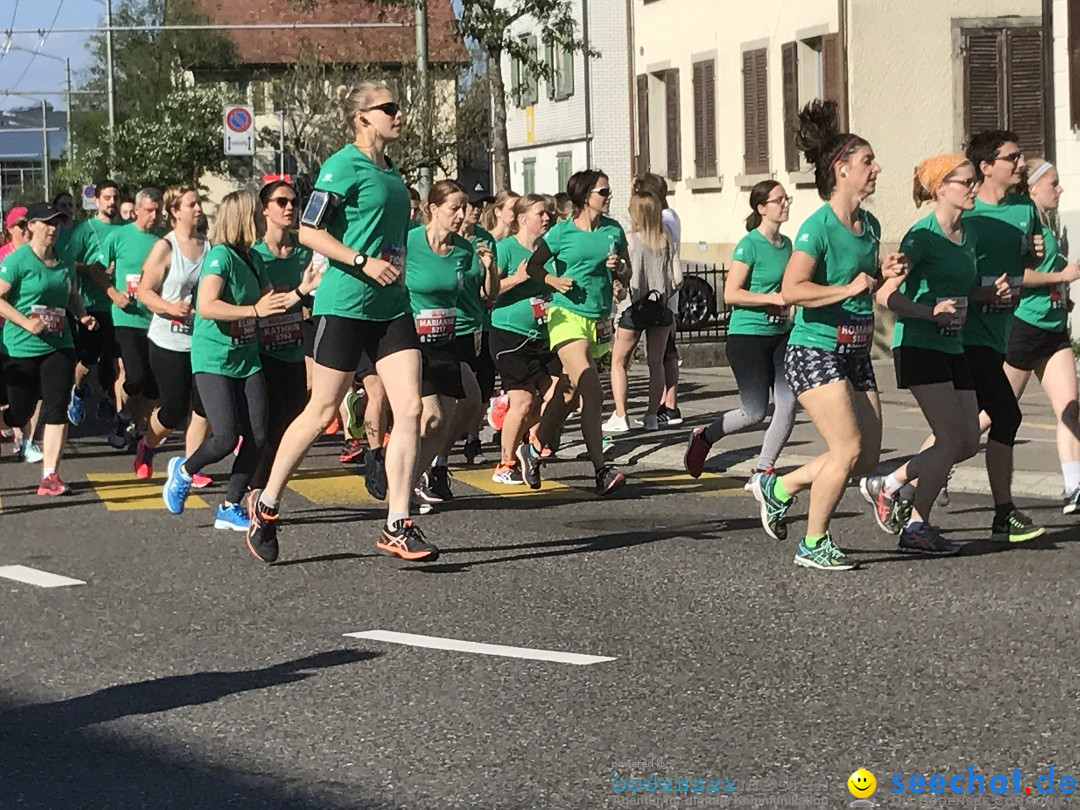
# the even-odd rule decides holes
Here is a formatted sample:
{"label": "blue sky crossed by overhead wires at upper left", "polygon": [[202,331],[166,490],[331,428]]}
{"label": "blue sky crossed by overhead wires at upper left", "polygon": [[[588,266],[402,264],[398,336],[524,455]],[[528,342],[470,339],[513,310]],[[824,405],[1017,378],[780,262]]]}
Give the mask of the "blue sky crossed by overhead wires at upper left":
{"label": "blue sky crossed by overhead wires at upper left", "polygon": [[[56,12],[59,10],[59,16]],[[100,25],[104,6],[98,0],[0,0],[0,50],[8,42],[8,31],[21,28],[49,31],[53,18],[56,28],[89,28]],[[14,15],[14,21],[13,21]],[[40,46],[41,53],[71,58],[72,83],[78,84],[79,71],[91,63],[86,53],[87,33],[14,33],[11,43],[30,51]],[[26,68],[29,66],[29,70]],[[26,70],[24,76],[23,71]],[[22,78],[21,78],[22,77]],[[22,51],[0,55],[0,91],[64,90],[64,65],[43,56],[33,57]],[[46,100],[63,108],[64,96],[48,96]],[[24,107],[33,102],[19,96],[0,94],[0,109]]]}

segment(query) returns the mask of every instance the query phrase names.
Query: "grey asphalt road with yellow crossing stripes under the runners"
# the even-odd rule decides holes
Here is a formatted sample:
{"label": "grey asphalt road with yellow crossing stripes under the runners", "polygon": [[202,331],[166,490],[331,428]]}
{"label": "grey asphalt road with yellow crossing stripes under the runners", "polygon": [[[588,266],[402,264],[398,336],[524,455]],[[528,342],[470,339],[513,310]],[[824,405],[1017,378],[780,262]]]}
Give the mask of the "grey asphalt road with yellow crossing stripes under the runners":
{"label": "grey asphalt road with yellow crossing stripes under the runners", "polygon": [[[0,579],[3,808],[840,807],[859,767],[896,806],[892,774],[1080,777],[1080,531],[1055,503],[1008,546],[988,499],[956,495],[937,519],[963,554],[920,559],[850,490],[834,535],[861,568],[829,575],[765,537],[739,478],[643,460],[600,502],[579,461],[514,497],[465,483],[485,468],[420,518],[443,549],[422,566],[375,553],[381,510],[327,443],[265,566],[211,509],[133,488],[130,456],[75,449],[64,500],[0,461],[0,566],[85,582]],[[346,635],[365,631],[613,660]],[[653,772],[728,789],[612,789]]]}

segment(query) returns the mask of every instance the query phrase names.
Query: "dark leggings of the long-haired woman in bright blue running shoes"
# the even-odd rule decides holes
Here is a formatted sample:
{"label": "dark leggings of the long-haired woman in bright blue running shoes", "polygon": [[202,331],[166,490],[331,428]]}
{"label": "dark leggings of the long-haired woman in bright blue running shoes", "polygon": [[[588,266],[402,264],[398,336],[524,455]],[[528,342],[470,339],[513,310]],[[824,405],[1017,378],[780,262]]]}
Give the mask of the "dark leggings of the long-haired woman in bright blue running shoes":
{"label": "dark leggings of the long-haired woman in bright blue running shoes", "polygon": [[190,473],[201,472],[232,453],[243,436],[244,446],[232,462],[229,491],[225,495],[227,502],[240,503],[267,441],[266,378],[262,372],[241,379],[200,373],[195,375],[195,384],[214,433],[199,445],[184,467]]}

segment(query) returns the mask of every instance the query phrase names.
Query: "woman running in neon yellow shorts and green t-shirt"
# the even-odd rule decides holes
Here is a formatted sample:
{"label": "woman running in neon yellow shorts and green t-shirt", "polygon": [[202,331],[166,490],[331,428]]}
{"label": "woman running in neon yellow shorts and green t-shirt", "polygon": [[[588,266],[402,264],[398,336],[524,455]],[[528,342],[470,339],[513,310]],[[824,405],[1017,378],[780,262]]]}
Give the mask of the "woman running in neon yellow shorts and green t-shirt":
{"label": "woman running in neon yellow shorts and green t-shirt", "polygon": [[[554,293],[548,308],[548,340],[563,364],[555,392],[532,441],[517,448],[522,476],[540,488],[540,453],[555,435],[581,397],[581,434],[596,471],[596,494],[621,488],[625,476],[604,460],[600,386],[596,359],[610,351],[612,283],[625,283],[630,257],[622,226],[609,218],[611,186],[603,172],[589,170],[570,177],[566,193],[575,215],[545,233],[529,259],[528,273]],[[546,265],[554,259],[554,273]]]}

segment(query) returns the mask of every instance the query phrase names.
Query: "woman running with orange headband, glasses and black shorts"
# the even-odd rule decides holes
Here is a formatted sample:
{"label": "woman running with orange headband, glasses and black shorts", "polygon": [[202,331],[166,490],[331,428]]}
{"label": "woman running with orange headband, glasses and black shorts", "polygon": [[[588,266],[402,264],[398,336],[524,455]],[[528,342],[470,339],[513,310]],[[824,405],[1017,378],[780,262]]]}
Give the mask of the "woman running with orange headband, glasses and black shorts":
{"label": "woman running with orange headband, glasses and black shorts", "polygon": [[[930,524],[930,511],[953,464],[978,451],[978,404],[963,353],[963,324],[969,297],[982,305],[987,294],[996,297],[999,291],[976,287],[975,233],[961,219],[974,210],[977,190],[975,166],[962,154],[940,154],[918,165],[915,203],[936,206],[901,243],[910,259],[907,275],[887,281],[877,292],[878,303],[897,315],[892,340],[896,387],[910,389],[935,437],[891,474],[860,482],[863,496],[873,500],[878,526],[900,535],[896,550],[903,553],[960,552]],[[1002,283],[1000,292],[1008,296],[1008,285]],[[915,480],[919,486],[913,507],[899,494]]]}

